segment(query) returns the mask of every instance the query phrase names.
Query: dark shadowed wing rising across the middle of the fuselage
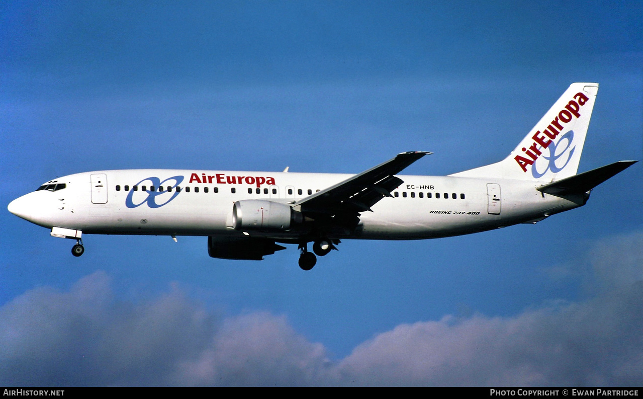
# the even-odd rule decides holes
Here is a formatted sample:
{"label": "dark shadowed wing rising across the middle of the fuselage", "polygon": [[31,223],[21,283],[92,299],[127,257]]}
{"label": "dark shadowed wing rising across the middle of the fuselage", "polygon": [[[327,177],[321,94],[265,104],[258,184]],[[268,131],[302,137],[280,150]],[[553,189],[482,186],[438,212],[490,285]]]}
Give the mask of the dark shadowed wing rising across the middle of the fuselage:
{"label": "dark shadowed wing rising across the middle of the fuselage", "polygon": [[301,212],[321,214],[357,214],[372,210],[377,201],[390,197],[403,181],[394,175],[429,153],[409,151],[297,201],[293,207]]}

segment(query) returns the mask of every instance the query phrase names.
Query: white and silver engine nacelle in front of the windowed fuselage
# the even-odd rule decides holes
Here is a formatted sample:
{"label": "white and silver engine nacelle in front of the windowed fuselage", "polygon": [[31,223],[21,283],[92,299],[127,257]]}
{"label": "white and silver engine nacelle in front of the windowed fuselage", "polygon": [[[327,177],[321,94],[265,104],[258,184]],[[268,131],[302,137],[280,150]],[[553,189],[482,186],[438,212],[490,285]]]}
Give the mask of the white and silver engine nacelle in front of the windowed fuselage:
{"label": "white and silver engine nacelle in front of the windowed fuselage", "polygon": [[264,199],[243,199],[232,207],[235,230],[287,230],[302,220],[290,205]]}

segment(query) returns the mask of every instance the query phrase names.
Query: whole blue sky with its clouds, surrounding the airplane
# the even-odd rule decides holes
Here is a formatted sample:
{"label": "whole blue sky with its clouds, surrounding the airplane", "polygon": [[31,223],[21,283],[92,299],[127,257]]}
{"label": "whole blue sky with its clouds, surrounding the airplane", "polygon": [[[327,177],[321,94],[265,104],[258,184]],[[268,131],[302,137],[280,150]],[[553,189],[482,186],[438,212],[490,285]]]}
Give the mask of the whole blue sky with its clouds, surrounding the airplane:
{"label": "whole blue sky with its clouds, surrounding the airplane", "polygon": [[[643,159],[640,2],[5,1],[5,206],[75,172],[501,160],[599,82],[580,170]],[[643,172],[537,225],[208,257],[0,212],[3,385],[641,385]]]}

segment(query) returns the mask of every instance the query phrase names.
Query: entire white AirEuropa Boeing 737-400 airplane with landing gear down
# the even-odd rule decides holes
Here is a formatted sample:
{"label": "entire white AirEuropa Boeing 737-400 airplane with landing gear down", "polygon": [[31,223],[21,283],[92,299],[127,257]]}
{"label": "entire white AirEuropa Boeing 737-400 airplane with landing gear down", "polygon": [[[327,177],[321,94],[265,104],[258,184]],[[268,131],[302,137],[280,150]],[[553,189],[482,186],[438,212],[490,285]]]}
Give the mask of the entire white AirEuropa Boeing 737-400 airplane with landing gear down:
{"label": "entire white AirEuropa Boeing 737-400 airplane with landing gear down", "polygon": [[[448,176],[398,175],[426,151],[359,174],[140,169],[62,176],[8,210],[51,236],[207,236],[208,254],[262,260],[296,244],[299,266],[342,239],[430,239],[536,223],[582,207],[637,161],[577,174],[599,85],[574,83],[504,160]],[[312,252],[308,244],[312,243]]]}

